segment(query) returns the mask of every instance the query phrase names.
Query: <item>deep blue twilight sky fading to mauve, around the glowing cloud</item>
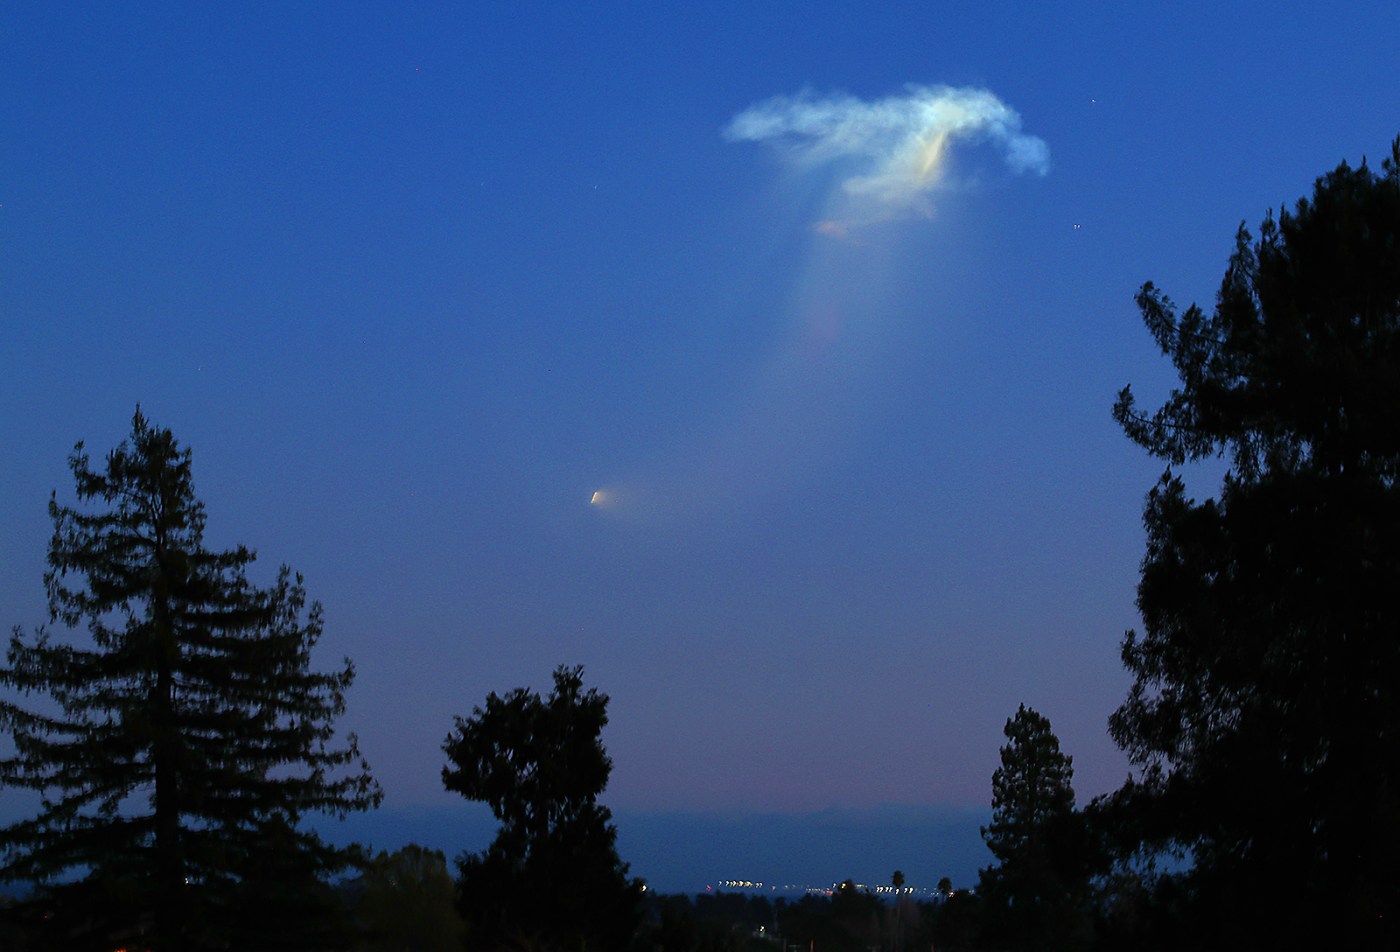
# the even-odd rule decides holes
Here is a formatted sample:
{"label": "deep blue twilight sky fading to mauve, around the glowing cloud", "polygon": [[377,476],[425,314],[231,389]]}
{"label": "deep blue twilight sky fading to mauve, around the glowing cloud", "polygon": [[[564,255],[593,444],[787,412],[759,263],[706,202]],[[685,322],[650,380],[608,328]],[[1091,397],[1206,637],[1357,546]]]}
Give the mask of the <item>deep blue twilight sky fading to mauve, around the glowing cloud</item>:
{"label": "deep blue twilight sky fading to mauve, around the glowing cloud", "polygon": [[[1133,293],[1208,302],[1240,220],[1400,133],[1393,0],[46,1],[0,32],[3,620],[45,619],[73,442],[140,403],[210,542],[325,602],[396,809],[451,802],[454,714],[557,664],[612,696],[623,809],[984,806],[1022,701],[1081,799],[1114,787],[1161,466],[1109,406],[1170,379]],[[860,169],[724,134],[909,84],[990,91],[1047,174],[953,141],[930,216],[820,234]]]}

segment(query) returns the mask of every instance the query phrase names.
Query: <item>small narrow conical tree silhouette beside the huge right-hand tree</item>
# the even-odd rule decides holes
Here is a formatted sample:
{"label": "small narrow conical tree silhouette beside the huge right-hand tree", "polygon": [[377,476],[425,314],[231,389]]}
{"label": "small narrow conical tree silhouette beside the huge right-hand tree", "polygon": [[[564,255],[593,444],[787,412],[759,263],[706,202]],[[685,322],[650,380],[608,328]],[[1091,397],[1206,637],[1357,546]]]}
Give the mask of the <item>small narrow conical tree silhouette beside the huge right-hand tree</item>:
{"label": "small narrow conical tree silhouette beside the huge right-hand tree", "polygon": [[1004,728],[991,777],[997,865],[981,871],[987,938],[1005,948],[1064,949],[1088,941],[1091,855],[1074,808],[1074,769],[1050,721],[1025,704]]}

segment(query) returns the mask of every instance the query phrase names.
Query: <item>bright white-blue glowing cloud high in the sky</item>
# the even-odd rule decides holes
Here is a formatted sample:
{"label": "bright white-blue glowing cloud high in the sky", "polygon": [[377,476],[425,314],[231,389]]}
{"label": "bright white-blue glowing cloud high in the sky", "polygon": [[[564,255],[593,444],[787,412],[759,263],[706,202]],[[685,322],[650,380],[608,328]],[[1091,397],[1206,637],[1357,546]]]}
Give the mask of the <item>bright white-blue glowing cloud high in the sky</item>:
{"label": "bright white-blue glowing cloud high in the sky", "polygon": [[773,143],[806,165],[854,164],[857,174],[841,182],[843,190],[874,217],[930,214],[928,196],[956,141],[991,143],[1015,174],[1050,169],[1044,141],[1021,132],[1021,116],[1007,104],[974,88],[909,85],[902,97],[874,102],[774,97],[736,115],[724,134]]}

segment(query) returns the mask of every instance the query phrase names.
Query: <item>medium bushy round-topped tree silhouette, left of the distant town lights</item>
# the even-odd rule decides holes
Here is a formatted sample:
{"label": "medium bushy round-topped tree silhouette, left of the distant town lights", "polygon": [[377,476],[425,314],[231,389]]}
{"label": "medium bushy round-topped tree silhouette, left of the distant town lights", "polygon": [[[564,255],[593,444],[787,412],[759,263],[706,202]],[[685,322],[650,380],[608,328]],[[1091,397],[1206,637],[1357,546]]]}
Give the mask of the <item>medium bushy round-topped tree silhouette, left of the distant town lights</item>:
{"label": "medium bushy round-topped tree silhouette, left of the distant town lights", "polygon": [[484,853],[458,860],[469,942],[480,949],[620,949],[638,916],[641,882],[617,857],[612,813],[598,802],[608,696],[584,690],[582,668],[559,668],[554,690],[491,693],[442,749],[442,783],[486,802],[501,827]]}

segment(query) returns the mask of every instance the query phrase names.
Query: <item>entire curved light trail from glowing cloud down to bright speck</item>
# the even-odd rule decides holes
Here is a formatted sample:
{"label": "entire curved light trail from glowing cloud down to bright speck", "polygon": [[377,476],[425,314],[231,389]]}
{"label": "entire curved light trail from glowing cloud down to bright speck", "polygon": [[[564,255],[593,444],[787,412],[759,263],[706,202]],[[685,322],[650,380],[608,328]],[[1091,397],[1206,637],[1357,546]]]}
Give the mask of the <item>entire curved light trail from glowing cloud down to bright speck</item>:
{"label": "entire curved light trail from glowing cloud down to bright speck", "polygon": [[773,315],[787,330],[766,356],[745,357],[750,382],[727,400],[731,416],[683,434],[647,472],[594,493],[594,508],[629,521],[732,510],[839,454],[871,410],[878,368],[897,336],[889,314],[909,284],[896,265],[907,227],[934,217],[939,188],[973,181],[951,171],[951,154],[990,146],[1012,174],[1050,168],[1046,143],[976,88],[909,85],[875,101],[773,97],[735,115],[722,134],[777,150],[795,175],[829,192],[809,223],[787,304]]}

